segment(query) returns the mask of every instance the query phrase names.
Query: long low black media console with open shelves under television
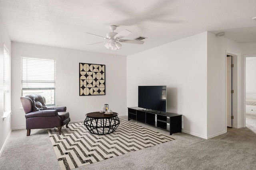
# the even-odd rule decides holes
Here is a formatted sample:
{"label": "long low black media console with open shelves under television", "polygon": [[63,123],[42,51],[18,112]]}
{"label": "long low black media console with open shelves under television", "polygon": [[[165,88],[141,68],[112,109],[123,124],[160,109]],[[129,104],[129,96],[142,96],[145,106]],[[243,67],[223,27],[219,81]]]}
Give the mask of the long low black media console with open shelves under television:
{"label": "long low black media console with open shelves under television", "polygon": [[128,107],[128,121],[133,119],[148,125],[159,127],[170,131],[170,135],[181,132],[182,115],[142,109],[143,108],[141,107]]}

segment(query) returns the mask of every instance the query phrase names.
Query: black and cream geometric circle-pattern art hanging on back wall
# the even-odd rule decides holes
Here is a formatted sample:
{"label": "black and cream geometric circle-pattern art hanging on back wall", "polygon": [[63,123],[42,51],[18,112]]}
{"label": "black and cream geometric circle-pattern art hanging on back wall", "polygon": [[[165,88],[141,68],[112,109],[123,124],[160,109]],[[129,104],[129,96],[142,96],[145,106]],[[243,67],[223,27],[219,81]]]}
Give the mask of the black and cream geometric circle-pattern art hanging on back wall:
{"label": "black and cream geometric circle-pattern art hanging on back wall", "polygon": [[79,63],[80,96],[105,95],[105,65]]}

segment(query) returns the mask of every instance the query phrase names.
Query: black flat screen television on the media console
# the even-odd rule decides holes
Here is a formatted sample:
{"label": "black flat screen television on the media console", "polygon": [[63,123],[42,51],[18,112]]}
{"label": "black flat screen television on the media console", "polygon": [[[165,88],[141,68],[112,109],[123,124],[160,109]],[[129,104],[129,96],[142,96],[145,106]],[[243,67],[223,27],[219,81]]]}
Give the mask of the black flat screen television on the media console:
{"label": "black flat screen television on the media console", "polygon": [[138,107],[166,112],[166,86],[139,86]]}

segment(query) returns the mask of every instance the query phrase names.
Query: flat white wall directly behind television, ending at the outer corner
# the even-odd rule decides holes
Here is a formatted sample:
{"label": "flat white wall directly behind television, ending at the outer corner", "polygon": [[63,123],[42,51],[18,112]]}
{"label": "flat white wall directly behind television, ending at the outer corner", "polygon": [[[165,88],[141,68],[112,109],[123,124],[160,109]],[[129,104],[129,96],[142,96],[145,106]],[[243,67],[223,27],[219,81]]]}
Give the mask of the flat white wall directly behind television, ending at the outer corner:
{"label": "flat white wall directly behind television, ending at the outer corner", "polygon": [[207,138],[207,32],[128,56],[128,107],[143,85],[166,85],[167,111],[183,115],[184,132]]}

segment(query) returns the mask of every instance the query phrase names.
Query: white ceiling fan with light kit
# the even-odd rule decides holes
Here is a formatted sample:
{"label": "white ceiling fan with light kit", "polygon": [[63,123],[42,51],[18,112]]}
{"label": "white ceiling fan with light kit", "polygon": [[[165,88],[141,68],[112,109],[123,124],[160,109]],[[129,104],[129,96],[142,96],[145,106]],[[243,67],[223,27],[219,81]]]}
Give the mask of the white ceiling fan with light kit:
{"label": "white ceiling fan with light kit", "polygon": [[[116,30],[116,25],[111,25],[110,29],[113,32],[107,33],[106,37],[96,35],[96,36],[99,36],[99,37],[103,37],[104,39],[106,39],[106,41],[101,41],[101,42],[98,42],[98,43],[92,43],[92,44],[88,44],[88,45],[105,43],[104,46],[107,49],[117,50],[117,49],[120,49],[122,47],[121,43],[131,43],[131,44],[143,44],[144,43],[144,41],[138,41],[138,40],[132,40],[132,39],[122,39],[123,37],[126,37],[126,36],[130,35],[130,33],[132,33],[131,31],[128,31],[127,29],[121,31],[120,33],[114,32],[114,30]],[[95,35],[95,34],[92,34],[92,33],[88,33],[88,34]]]}

